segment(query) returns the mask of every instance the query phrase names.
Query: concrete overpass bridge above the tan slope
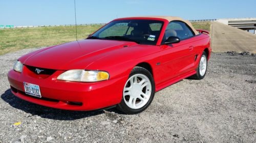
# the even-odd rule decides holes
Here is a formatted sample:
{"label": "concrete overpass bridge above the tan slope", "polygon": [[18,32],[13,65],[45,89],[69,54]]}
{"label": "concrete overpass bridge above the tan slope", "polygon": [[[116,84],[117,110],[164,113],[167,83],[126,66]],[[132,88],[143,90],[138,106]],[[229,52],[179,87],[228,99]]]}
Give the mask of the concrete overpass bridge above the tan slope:
{"label": "concrete overpass bridge above the tan slope", "polygon": [[256,35],[256,18],[228,18],[228,19],[217,19],[218,22],[230,25],[233,27],[240,28],[249,32],[253,30]]}

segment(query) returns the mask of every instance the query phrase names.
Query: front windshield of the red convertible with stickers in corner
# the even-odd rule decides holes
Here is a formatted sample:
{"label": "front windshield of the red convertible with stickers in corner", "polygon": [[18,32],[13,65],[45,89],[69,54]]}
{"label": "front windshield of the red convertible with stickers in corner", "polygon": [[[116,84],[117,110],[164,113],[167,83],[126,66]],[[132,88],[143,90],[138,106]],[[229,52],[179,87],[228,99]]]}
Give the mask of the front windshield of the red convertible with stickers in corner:
{"label": "front windshield of the red convertible with stickers in corner", "polygon": [[102,27],[87,39],[133,41],[138,44],[156,45],[162,30],[159,20],[117,20]]}

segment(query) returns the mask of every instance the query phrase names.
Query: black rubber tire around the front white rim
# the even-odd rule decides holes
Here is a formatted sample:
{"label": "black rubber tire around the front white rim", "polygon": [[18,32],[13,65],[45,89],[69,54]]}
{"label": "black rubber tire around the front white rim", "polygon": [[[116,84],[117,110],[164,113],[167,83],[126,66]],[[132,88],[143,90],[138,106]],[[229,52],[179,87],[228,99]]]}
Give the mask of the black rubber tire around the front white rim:
{"label": "black rubber tire around the front white rim", "polygon": [[123,98],[123,95],[122,95],[122,100],[117,105],[117,109],[126,113],[126,114],[129,114],[129,115],[136,114],[136,113],[139,113],[139,112],[142,112],[143,110],[145,110],[151,104],[151,102],[153,101],[154,96],[155,96],[155,81],[154,81],[154,78],[153,78],[152,74],[148,70],[146,70],[145,68],[135,67],[132,70],[132,72],[130,73],[129,78],[131,76],[135,75],[135,74],[145,75],[151,82],[152,91],[151,91],[150,99],[147,101],[147,103],[143,107],[138,108],[138,109],[133,109],[133,108],[130,108],[129,106],[127,106],[125,101],[124,101],[125,99]]}

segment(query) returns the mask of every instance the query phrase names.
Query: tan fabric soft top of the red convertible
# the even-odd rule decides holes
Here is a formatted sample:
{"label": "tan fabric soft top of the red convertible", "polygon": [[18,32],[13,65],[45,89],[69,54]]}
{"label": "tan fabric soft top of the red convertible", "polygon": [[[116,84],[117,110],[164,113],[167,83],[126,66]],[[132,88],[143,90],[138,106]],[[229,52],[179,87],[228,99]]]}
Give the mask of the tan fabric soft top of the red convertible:
{"label": "tan fabric soft top of the red convertible", "polygon": [[[188,20],[184,20],[180,17],[176,17],[176,16],[136,16],[136,17],[144,17],[144,18],[161,18],[161,19],[166,19],[169,22],[170,21],[174,21],[174,20],[179,20],[179,21],[183,21],[185,23],[187,23],[187,25],[191,28],[191,30],[193,30],[193,32],[195,33],[195,35],[198,35],[199,33],[195,30],[195,28],[193,27],[193,25],[188,21]],[[136,17],[126,17],[126,18],[136,18]]]}

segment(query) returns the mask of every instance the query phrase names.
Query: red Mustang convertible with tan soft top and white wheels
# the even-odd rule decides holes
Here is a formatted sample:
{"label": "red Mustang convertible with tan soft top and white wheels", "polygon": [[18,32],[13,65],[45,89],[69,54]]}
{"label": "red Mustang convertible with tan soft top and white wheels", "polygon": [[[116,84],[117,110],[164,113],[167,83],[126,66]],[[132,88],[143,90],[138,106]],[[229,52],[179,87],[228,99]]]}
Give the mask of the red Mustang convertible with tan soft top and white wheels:
{"label": "red Mustang convertible with tan soft top and white wheels", "polygon": [[134,114],[155,92],[204,78],[210,53],[208,32],[179,17],[118,18],[87,39],[22,56],[8,80],[15,96],[36,104]]}

